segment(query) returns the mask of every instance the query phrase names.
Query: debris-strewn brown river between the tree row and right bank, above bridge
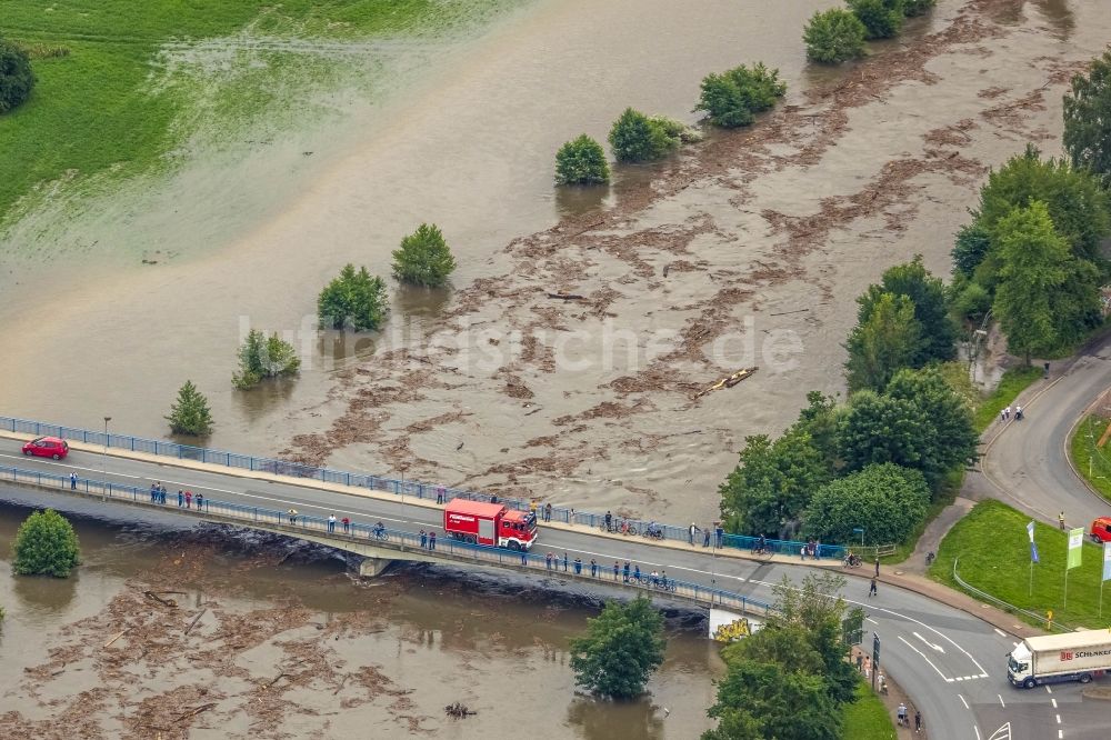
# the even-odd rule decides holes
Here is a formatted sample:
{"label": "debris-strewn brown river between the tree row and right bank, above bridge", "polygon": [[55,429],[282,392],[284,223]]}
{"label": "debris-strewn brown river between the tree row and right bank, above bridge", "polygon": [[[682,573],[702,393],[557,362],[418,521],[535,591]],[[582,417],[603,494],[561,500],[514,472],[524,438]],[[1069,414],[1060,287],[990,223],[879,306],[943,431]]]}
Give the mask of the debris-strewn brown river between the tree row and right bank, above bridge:
{"label": "debris-strewn brown river between the tree row and right bank, above bridge", "polygon": [[855,296],[914,253],[948,276],[988,168],[1027,141],[1055,149],[1064,84],[1102,43],[1087,23],[1109,26],[1057,4],[942,3],[937,30],[511,242],[423,336],[340,372],[342,412],[286,453],[713,518],[747,434],[842,390]]}

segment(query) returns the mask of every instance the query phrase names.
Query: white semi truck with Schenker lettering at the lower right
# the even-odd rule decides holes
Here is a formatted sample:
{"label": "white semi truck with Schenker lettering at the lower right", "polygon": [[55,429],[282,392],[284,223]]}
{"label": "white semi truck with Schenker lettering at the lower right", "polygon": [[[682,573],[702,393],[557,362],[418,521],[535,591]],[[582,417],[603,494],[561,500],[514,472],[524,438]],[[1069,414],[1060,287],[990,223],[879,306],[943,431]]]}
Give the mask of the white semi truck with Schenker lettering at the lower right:
{"label": "white semi truck with Schenker lettering at the lower right", "polygon": [[1027,638],[1007,656],[1008,680],[1024,689],[1062,681],[1088,683],[1108,671],[1111,630]]}

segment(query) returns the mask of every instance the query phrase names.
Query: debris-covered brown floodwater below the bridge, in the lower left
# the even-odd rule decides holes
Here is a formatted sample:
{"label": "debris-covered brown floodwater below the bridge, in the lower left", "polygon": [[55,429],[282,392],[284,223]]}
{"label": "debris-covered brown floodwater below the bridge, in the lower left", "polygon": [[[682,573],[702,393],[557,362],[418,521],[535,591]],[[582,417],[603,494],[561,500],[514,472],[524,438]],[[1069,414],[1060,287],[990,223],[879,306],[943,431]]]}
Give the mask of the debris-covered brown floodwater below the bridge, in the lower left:
{"label": "debris-covered brown floodwater below the bridge, in the lower left", "polygon": [[[28,512],[0,502],[0,552]],[[567,664],[597,613],[584,599],[451,569],[357,581],[288,540],[93,514],[72,517],[84,562],[71,579],[0,560],[6,740],[662,740],[709,726],[720,659],[678,620],[650,696],[600,702],[575,694]],[[456,701],[477,713],[447,717]]]}

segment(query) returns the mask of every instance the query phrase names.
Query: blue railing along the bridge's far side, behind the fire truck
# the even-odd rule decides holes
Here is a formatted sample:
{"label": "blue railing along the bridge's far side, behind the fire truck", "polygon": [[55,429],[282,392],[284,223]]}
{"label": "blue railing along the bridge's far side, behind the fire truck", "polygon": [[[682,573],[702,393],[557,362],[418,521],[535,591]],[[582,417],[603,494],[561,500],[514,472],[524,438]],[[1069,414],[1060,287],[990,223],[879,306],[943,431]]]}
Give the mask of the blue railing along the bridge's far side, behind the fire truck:
{"label": "blue railing along the bridge's far side, behind the fire truck", "polygon": [[[251,470],[258,472],[288,476],[292,478],[304,478],[319,480],[328,483],[352,486],[356,488],[367,488],[374,491],[392,493],[394,496],[429,500],[451,500],[462,498],[471,501],[497,501],[518,511],[536,510],[537,517],[541,520],[558,521],[585,527],[602,528],[605,516],[597,512],[577,511],[572,507],[552,506],[549,510],[547,506],[537,506],[536,502],[526,499],[516,499],[498,496],[497,493],[483,493],[466,489],[451,488],[437,483],[427,483],[419,480],[403,480],[390,478],[388,476],[374,476],[370,473],[352,473],[330,468],[308,466],[291,460],[279,460],[274,458],[257,458],[249,454],[239,454],[226,450],[213,450],[203,447],[191,447],[168,442],[164,440],[144,439],[142,437],[131,437],[129,434],[106,434],[102,431],[79,429],[76,427],[62,427],[29,419],[18,419],[14,417],[0,417],[0,429],[10,432],[21,432],[34,434],[36,437],[61,437],[63,439],[80,441],[87,444],[96,444],[104,449],[127,450],[130,452],[144,452],[158,457],[177,458],[179,460],[193,460],[209,464],[219,464],[240,470]],[[623,517],[612,517],[612,523],[620,524],[628,522],[635,534],[643,536],[648,529],[648,521],[639,519],[628,519]],[[695,544],[705,543],[707,547],[734,548],[739,550],[755,550],[759,538],[745,537],[741,534],[728,534],[725,532],[711,531],[707,539],[705,532],[700,531],[694,538],[690,536],[689,526],[660,524],[664,539],[674,541],[693,541]],[[798,556],[805,542],[794,540],[765,540],[764,551],[775,554]],[[840,544],[821,543],[817,548],[815,557],[835,558],[838,560],[845,556],[847,548]]]}

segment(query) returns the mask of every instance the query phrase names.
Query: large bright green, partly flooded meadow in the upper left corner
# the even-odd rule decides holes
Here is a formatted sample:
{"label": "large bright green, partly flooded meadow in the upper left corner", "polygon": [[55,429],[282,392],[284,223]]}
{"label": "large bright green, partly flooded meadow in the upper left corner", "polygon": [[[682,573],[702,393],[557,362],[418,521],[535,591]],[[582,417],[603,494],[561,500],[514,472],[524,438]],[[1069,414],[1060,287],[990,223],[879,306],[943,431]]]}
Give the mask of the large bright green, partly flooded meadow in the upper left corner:
{"label": "large bright green, partly flooded meadow in the upper left corner", "polygon": [[0,222],[36,186],[148,171],[191,126],[296,109],[303,83],[379,53],[336,42],[443,31],[511,2],[0,0],[0,34],[31,52],[38,78],[0,117]]}

